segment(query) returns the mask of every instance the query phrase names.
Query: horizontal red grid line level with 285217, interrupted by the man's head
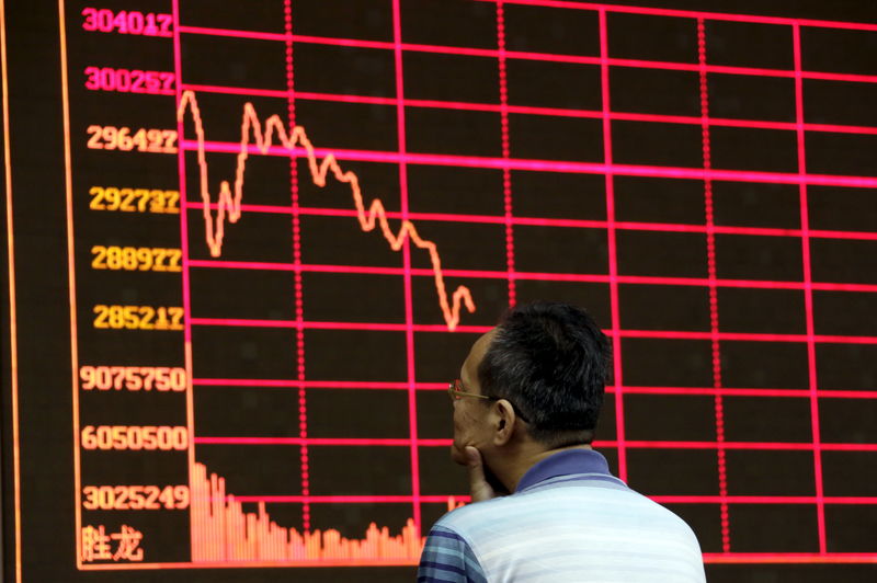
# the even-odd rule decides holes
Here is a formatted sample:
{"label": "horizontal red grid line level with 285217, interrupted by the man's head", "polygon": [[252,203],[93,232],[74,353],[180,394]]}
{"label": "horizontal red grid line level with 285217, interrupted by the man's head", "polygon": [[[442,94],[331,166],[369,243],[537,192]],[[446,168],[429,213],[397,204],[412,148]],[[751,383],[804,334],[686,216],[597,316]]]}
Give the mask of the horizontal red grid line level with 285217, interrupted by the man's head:
{"label": "horizontal red grid line level with 285217, interrupted by the man's head", "polygon": [[[329,322],[297,320],[261,320],[255,318],[190,318],[192,325],[243,327],[243,328],[289,328],[304,330],[372,330],[385,332],[403,332],[408,330],[405,322]],[[444,324],[413,324],[415,332],[447,332]],[[491,325],[458,325],[459,332],[489,332]],[[739,342],[804,342],[807,334],[778,334],[765,332],[721,332],[682,330],[618,330],[622,338],[628,339],[667,339],[667,340],[713,340]],[[830,344],[877,344],[877,336],[816,334],[813,342]]]}

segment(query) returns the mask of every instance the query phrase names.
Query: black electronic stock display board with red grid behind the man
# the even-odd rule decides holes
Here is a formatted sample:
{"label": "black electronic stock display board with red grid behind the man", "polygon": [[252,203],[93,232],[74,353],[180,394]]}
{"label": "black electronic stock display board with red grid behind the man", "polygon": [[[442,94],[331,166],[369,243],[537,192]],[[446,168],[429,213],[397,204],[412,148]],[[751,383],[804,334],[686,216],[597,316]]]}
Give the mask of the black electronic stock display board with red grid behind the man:
{"label": "black electronic stock display board with red grid behind the man", "polygon": [[877,14],[720,4],[7,2],[4,574],[411,580],[534,299],[710,580],[873,572]]}

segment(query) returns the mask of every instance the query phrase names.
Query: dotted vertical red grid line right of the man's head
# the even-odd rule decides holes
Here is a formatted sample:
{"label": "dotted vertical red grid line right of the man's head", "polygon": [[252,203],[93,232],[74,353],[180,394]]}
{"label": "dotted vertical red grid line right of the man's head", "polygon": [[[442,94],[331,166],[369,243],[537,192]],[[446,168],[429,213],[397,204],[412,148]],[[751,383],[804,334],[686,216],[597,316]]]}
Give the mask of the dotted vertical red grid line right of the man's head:
{"label": "dotted vertical red grid line right of the man's head", "polygon": [[[701,81],[701,140],[704,150],[704,174],[713,169],[709,136],[709,85],[706,72],[706,31],[704,19],[697,19],[697,62]],[[704,176],[704,215],[706,220],[706,254],[709,289],[709,332],[713,350],[713,387],[721,388],[721,347],[719,344],[719,305],[716,292],[716,231],[713,206],[713,179]],[[716,412],[716,456],[719,478],[719,516],[721,522],[721,551],[731,551],[730,526],[728,521],[728,471],[725,457],[725,407],[721,393],[717,390],[714,408]]]}

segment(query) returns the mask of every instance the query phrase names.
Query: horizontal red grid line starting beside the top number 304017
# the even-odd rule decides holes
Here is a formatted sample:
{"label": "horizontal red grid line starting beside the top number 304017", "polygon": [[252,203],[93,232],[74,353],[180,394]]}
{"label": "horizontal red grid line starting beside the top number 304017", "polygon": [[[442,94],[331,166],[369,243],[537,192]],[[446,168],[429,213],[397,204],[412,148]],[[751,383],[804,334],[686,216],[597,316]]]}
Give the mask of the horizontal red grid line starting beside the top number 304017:
{"label": "horizontal red grid line starting beside the top number 304017", "polygon": [[[281,33],[244,31],[235,28],[180,26],[180,32],[185,34],[224,36],[229,38],[246,38],[251,41],[273,41],[273,42],[285,43],[287,39],[292,39],[295,43],[343,46],[353,48],[372,48],[380,50],[395,50],[396,48],[396,45],[394,43],[386,43],[381,41],[361,41],[356,38],[339,38],[329,36],[308,36],[308,35],[295,35],[295,34],[286,35]],[[497,59],[500,57],[500,52],[498,49],[492,49],[492,48],[468,48],[458,46],[402,43],[401,49],[408,53],[459,55],[469,57],[486,57],[491,59]],[[601,65],[603,62],[603,60],[599,56],[591,56],[591,55],[555,55],[549,53],[522,52],[522,50],[505,50],[503,52],[503,55],[508,59],[536,60],[544,62],[570,62],[577,65],[595,65],[595,66]],[[625,59],[625,58],[614,58],[614,57],[607,58],[606,64],[610,67],[661,69],[671,71],[697,72],[701,69],[699,65],[696,62],[653,61],[645,59]],[[707,65],[706,71],[708,73],[739,75],[748,77],[777,77],[787,79],[794,79],[796,77],[795,70],[767,69],[758,67],[734,67],[727,65]],[[804,79],[877,83],[876,75],[840,73],[831,71],[801,71],[800,76]]]}

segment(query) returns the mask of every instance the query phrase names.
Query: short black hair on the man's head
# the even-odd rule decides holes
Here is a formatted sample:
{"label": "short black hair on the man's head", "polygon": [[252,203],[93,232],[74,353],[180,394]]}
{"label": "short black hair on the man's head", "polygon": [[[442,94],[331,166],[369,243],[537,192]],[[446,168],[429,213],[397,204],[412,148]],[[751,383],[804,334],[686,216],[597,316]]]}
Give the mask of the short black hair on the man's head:
{"label": "short black hair on the man's head", "polygon": [[500,320],[478,366],[482,395],[508,399],[529,435],[550,447],[591,443],[612,348],[581,308],[536,301]]}

